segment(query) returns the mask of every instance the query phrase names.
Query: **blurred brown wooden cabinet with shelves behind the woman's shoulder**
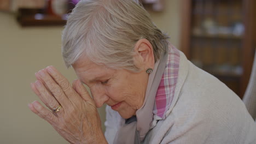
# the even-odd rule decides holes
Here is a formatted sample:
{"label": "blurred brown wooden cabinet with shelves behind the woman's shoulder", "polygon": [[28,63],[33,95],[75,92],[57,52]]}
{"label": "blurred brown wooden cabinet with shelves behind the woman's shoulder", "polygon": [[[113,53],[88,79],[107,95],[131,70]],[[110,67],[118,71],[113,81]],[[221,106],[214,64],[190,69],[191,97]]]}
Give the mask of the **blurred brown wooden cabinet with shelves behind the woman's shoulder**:
{"label": "blurred brown wooden cabinet with shelves behind the woman's shoulder", "polygon": [[181,50],[240,98],[255,52],[254,0],[182,0]]}

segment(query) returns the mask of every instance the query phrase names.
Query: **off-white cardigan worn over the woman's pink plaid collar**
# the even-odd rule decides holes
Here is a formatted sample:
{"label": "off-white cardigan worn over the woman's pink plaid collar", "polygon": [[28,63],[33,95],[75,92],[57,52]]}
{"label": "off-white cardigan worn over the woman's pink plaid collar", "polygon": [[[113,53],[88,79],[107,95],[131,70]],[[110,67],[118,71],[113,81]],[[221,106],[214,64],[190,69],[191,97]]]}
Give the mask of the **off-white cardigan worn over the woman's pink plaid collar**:
{"label": "off-white cardigan worn over the woman's pink plaid collar", "polygon": [[[180,54],[172,104],[142,143],[256,144],[256,123],[242,100]],[[113,143],[121,117],[109,106],[106,112],[105,136]]]}

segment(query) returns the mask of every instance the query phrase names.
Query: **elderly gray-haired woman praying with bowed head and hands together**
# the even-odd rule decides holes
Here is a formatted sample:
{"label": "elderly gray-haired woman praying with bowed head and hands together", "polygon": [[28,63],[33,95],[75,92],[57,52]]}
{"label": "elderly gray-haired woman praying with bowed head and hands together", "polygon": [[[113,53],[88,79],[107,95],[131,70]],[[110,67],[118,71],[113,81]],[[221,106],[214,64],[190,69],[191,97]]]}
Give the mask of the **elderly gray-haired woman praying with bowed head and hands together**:
{"label": "elderly gray-haired woman praying with bowed head and hands together", "polygon": [[[71,143],[256,143],[256,124],[222,82],[167,41],[135,0],[80,1],[62,55],[79,80],[50,66],[28,106]],[[82,85],[85,83],[92,98]],[[96,107],[104,103],[106,133]]]}

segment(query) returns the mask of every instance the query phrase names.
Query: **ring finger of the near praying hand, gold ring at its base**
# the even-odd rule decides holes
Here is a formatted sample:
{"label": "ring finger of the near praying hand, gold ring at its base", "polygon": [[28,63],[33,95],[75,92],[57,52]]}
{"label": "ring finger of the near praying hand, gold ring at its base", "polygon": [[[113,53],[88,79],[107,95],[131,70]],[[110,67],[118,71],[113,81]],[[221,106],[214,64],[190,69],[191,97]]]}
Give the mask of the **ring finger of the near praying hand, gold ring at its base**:
{"label": "ring finger of the near praying hand, gold ring at its base", "polygon": [[53,95],[51,95],[49,91],[45,88],[41,81],[37,80],[36,83],[32,85],[38,90],[39,93],[36,94],[38,95],[39,99],[42,100],[43,103],[47,107],[49,107],[50,110],[53,110],[60,105],[58,101],[53,97]]}

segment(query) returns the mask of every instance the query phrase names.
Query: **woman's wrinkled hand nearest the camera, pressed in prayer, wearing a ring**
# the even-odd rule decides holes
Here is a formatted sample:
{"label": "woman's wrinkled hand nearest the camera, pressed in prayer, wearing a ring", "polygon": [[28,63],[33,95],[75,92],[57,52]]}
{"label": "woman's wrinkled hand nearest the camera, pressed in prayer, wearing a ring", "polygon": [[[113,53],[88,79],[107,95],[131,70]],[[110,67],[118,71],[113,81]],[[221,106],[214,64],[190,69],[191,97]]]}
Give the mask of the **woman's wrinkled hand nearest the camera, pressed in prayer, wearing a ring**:
{"label": "woman's wrinkled hand nearest the camera, pressed in prayer, wearing a ring", "polygon": [[[38,101],[28,104],[30,110],[49,122],[70,143],[107,143],[101,130],[96,104],[79,80],[69,84],[53,66],[38,71],[31,88]],[[52,112],[61,105],[59,112]]]}

